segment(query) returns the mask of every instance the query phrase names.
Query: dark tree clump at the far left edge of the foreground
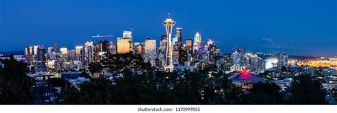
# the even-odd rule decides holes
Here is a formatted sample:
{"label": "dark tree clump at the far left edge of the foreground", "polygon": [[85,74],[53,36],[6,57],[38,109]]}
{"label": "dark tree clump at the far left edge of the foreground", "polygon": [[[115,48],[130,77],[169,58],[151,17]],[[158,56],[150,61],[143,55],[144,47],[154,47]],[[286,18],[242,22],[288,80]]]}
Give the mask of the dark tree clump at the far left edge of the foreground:
{"label": "dark tree clump at the far left edge of the foreground", "polygon": [[26,75],[26,64],[16,61],[13,55],[1,62],[4,67],[0,66],[0,104],[34,104],[30,90],[35,81]]}

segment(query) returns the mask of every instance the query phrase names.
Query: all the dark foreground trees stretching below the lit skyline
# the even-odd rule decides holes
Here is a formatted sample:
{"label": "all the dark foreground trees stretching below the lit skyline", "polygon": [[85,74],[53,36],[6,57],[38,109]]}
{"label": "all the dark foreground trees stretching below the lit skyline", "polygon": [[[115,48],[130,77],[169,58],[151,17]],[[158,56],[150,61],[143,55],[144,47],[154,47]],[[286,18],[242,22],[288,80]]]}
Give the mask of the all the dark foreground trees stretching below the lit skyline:
{"label": "all the dark foreground trees stretching below the lit skyline", "polygon": [[[279,92],[279,86],[274,83],[256,83],[252,89],[242,91],[228,80],[230,75],[212,65],[194,71],[166,73],[156,71],[139,54],[107,54],[106,57],[90,65],[90,81],[63,91],[65,101],[58,104],[327,104],[321,83],[311,81],[309,76],[294,77],[287,93]],[[26,76],[26,64],[13,58],[2,62],[0,104],[33,104],[29,88],[34,81]],[[106,72],[114,76],[103,76]],[[50,82],[66,84],[58,81]]]}

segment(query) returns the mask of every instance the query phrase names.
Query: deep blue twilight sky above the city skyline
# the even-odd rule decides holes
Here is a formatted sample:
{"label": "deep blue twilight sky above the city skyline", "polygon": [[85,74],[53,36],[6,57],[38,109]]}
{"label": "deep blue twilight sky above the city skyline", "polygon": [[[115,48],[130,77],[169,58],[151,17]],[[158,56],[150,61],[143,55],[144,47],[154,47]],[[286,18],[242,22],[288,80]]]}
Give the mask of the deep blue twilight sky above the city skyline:
{"label": "deep blue twilight sky above the city skyline", "polygon": [[175,28],[183,28],[183,40],[198,31],[202,40],[218,41],[224,53],[237,46],[337,54],[336,0],[0,0],[0,51],[55,42],[72,49],[95,40],[92,35],[116,40],[131,29],[134,42],[158,42],[168,12]]}

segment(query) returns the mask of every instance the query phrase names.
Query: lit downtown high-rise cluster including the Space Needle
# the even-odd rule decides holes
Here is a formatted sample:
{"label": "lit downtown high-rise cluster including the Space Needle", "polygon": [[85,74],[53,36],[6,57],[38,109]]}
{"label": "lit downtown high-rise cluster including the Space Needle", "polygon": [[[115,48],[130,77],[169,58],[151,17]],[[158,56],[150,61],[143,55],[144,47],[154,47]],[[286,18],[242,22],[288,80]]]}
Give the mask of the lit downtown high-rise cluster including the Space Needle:
{"label": "lit downtown high-rise cluster including the Space Needle", "polygon": [[172,37],[175,22],[168,18],[163,22],[166,35],[161,35],[159,46],[157,40],[146,38],[144,42],[133,42],[132,31],[124,30],[117,42],[102,40],[101,37],[112,35],[92,36],[97,42],[87,41],[84,45],[76,45],[75,49],[67,47],[44,47],[43,45],[28,45],[25,49],[26,62],[31,64],[31,72],[62,72],[69,70],[87,69],[89,64],[105,59],[107,52],[111,54],[136,53],[141,54],[144,61],[161,71],[174,69],[195,69],[208,64],[217,63],[220,49],[213,40],[203,41],[199,32],[194,40],[183,42],[183,28],[176,28],[176,35]]}

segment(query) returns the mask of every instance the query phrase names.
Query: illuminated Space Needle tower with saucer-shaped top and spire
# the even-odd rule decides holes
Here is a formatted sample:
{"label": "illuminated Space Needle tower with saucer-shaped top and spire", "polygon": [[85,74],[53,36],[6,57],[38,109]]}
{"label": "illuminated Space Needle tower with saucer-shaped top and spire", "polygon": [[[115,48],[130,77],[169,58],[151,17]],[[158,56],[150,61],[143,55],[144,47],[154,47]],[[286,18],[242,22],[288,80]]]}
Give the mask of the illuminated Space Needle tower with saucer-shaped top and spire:
{"label": "illuminated Space Needle tower with saucer-shaped top and spire", "polygon": [[167,35],[167,44],[166,44],[166,59],[165,59],[165,71],[166,72],[172,72],[173,71],[173,59],[172,59],[172,40],[171,40],[171,34],[172,34],[172,27],[175,25],[176,22],[174,22],[170,18],[164,20],[163,25],[166,27],[166,35]]}

